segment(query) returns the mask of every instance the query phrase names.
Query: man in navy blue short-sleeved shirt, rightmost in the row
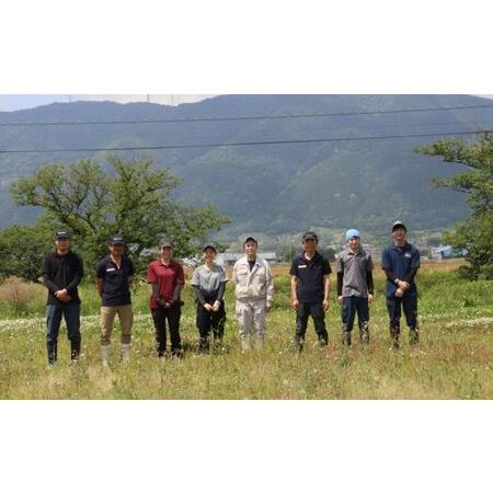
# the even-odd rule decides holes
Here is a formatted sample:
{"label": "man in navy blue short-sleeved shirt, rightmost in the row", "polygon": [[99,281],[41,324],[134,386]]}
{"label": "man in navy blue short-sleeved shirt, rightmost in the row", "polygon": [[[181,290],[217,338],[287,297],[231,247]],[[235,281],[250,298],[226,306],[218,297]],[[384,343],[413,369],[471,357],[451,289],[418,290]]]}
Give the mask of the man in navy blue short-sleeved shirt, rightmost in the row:
{"label": "man in navy blue short-sleeved shirt, rightmost in the row", "polygon": [[390,335],[393,347],[399,348],[401,306],[410,329],[410,344],[420,340],[417,326],[417,289],[414,277],[420,268],[420,251],[405,241],[408,229],[401,221],[391,228],[393,244],[381,254],[381,268],[387,276],[387,310],[390,319]]}

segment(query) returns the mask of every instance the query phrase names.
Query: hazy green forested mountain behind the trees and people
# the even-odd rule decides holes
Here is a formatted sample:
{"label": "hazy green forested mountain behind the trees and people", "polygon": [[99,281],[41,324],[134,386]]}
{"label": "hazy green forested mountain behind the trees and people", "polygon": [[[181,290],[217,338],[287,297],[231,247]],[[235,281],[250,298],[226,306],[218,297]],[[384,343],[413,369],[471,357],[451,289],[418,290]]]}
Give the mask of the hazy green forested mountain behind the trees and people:
{"label": "hazy green forested mountain behind the trees and people", "polygon": [[[388,113],[484,104],[492,107]],[[381,113],[124,125],[4,125],[367,112]],[[11,203],[8,188],[12,181],[28,175],[42,163],[103,160],[107,153],[56,149],[351,139],[468,131],[490,128],[492,124],[493,101],[470,95],[221,95],[176,107],[74,102],[0,113],[0,150],[51,150],[0,152],[0,228],[31,222],[38,213]],[[176,198],[196,205],[216,204],[231,218],[228,232],[232,236],[241,231],[295,233],[309,227],[358,227],[381,233],[397,218],[414,229],[437,230],[467,216],[465,196],[429,186],[432,176],[446,176],[460,171],[460,167],[445,165],[413,151],[416,145],[437,138],[195,147],[127,154],[151,157],[157,167],[170,168],[183,180]]]}

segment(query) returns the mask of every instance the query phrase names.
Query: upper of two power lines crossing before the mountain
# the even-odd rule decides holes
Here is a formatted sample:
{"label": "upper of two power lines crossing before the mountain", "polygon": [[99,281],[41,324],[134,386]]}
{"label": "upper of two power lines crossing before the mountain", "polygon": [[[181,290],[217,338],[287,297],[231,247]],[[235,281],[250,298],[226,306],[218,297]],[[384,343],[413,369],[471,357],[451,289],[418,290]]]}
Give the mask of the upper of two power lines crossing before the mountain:
{"label": "upper of two power lines crossing before the mountain", "polygon": [[468,106],[443,106],[443,107],[419,107],[402,110],[380,110],[371,112],[346,112],[346,113],[312,113],[312,114],[284,114],[284,115],[250,115],[250,116],[199,116],[192,118],[165,118],[165,119],[108,119],[85,122],[0,122],[0,127],[44,127],[44,126],[74,126],[74,125],[137,125],[137,124],[167,124],[167,123],[196,123],[196,122],[232,122],[255,119],[288,119],[288,118],[325,118],[332,116],[365,116],[386,115],[399,113],[427,113],[448,112],[459,110],[493,108],[492,104],[475,104]]}

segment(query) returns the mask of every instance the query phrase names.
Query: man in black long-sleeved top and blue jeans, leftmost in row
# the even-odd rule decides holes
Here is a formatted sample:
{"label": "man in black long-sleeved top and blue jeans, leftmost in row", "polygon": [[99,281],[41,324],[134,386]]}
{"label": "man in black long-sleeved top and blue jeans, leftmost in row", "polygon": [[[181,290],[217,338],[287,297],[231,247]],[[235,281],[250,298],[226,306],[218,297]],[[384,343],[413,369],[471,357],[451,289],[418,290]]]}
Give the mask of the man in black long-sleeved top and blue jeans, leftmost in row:
{"label": "man in black long-sleeved top and blue jeans, leftmost in row", "polygon": [[43,262],[43,282],[48,288],[46,346],[49,367],[57,360],[61,317],[67,324],[71,359],[79,359],[80,298],[77,286],[84,275],[82,260],[70,251],[70,233],[57,231],[55,244],[56,251],[46,255]]}

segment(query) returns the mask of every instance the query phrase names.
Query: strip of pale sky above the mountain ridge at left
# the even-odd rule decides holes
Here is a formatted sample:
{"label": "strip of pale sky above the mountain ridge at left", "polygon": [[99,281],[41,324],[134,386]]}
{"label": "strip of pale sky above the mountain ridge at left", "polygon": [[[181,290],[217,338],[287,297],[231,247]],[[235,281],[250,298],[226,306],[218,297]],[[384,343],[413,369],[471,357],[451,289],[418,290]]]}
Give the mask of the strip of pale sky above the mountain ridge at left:
{"label": "strip of pale sky above the mountain ridge at left", "polygon": [[[177,105],[195,103],[211,98],[214,94],[150,94],[151,103]],[[12,112],[50,103],[67,103],[69,101],[116,101],[130,103],[147,101],[146,94],[0,94],[0,111]]]}

